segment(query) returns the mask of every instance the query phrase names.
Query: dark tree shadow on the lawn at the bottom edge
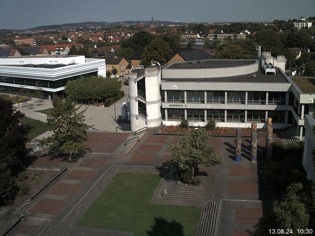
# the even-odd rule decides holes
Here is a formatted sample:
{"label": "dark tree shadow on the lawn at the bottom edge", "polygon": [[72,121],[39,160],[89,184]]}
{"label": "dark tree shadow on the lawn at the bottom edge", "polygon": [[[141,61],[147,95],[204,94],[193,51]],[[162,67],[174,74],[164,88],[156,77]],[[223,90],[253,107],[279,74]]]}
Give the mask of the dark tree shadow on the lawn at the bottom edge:
{"label": "dark tree shadow on the lawn at the bottom edge", "polygon": [[156,222],[147,231],[147,236],[184,236],[183,226],[179,222],[168,222],[162,217],[154,219]]}

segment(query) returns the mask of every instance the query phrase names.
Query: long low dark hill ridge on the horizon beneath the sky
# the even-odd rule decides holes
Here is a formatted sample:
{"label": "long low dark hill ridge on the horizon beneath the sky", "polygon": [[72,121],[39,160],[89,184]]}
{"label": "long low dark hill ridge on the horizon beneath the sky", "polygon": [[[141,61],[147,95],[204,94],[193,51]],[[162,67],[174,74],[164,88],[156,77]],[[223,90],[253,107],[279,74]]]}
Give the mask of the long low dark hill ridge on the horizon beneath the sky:
{"label": "long low dark hill ridge on the horizon beneath the sky", "polygon": [[[151,21],[141,21],[139,23],[150,24]],[[186,24],[183,22],[171,22],[171,21],[155,21],[155,23],[161,25],[178,25],[178,24]],[[31,29],[43,29],[43,30],[54,30],[54,29],[63,29],[63,28],[87,28],[87,27],[117,27],[121,25],[132,25],[137,24],[137,21],[120,21],[120,22],[81,22],[81,23],[68,23],[62,25],[49,25],[49,26],[38,26]]]}

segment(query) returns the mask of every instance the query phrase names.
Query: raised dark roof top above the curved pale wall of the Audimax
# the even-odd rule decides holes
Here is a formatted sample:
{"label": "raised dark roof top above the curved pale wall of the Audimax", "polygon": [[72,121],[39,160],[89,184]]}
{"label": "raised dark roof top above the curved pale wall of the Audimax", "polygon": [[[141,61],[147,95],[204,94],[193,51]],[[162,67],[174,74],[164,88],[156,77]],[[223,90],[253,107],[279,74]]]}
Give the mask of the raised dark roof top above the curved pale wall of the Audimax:
{"label": "raised dark roof top above the curved pale wall of the Audimax", "polygon": [[250,65],[255,63],[255,60],[201,60],[201,61],[187,61],[174,63],[164,69],[207,69],[207,68],[224,68]]}

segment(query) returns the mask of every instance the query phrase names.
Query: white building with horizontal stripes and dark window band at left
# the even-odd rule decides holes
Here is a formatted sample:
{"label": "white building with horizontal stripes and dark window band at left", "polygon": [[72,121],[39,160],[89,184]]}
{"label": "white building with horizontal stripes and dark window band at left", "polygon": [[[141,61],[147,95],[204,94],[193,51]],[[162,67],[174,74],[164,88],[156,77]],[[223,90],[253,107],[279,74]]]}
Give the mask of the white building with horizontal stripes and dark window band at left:
{"label": "white building with horizontal stripes and dark window band at left", "polygon": [[0,91],[40,89],[46,98],[62,93],[68,81],[80,77],[106,77],[105,59],[84,56],[21,56],[0,59]]}

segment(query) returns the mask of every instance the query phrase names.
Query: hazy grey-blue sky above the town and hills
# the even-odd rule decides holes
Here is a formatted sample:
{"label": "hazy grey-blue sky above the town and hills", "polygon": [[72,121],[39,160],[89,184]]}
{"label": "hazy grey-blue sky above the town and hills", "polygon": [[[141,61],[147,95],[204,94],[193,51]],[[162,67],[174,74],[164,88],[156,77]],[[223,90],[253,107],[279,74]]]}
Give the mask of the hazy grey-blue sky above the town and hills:
{"label": "hazy grey-blue sky above the town and hills", "polygon": [[86,21],[273,21],[315,16],[315,0],[0,0],[0,29]]}

